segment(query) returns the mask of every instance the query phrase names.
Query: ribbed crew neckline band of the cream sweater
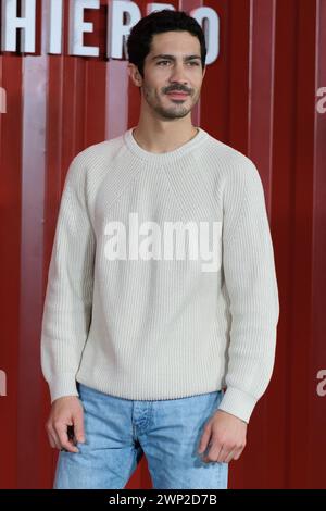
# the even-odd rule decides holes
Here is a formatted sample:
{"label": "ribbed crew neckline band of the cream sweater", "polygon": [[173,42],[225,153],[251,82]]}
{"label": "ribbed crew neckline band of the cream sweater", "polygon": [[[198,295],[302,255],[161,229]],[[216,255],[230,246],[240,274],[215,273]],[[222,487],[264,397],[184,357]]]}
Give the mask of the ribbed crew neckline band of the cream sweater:
{"label": "ribbed crew neckline band of the cream sweater", "polygon": [[173,149],[172,151],[167,152],[151,152],[147,151],[142,147],[139,146],[139,144],[136,141],[136,138],[134,137],[133,133],[134,129],[136,129],[137,126],[133,126],[129,129],[127,129],[124,134],[124,140],[129,150],[139,157],[142,160],[152,162],[152,163],[166,163],[171,161],[177,160],[179,157],[186,154],[187,152],[192,151],[195,148],[198,147],[198,145],[205,139],[209,134],[202,129],[200,126],[195,126],[197,128],[197,134],[190,138],[187,142],[183,144],[180,147]]}

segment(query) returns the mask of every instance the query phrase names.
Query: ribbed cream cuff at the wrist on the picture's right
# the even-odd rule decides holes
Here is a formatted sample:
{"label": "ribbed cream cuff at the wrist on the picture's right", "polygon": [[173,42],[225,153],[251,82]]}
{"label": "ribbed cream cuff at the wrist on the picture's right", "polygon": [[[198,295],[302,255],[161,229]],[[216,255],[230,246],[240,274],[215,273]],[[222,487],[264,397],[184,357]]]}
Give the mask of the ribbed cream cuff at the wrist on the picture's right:
{"label": "ribbed cream cuff at the wrist on the picture's right", "polygon": [[227,387],[218,410],[231,413],[248,424],[256,402],[258,399],[250,394],[235,387]]}

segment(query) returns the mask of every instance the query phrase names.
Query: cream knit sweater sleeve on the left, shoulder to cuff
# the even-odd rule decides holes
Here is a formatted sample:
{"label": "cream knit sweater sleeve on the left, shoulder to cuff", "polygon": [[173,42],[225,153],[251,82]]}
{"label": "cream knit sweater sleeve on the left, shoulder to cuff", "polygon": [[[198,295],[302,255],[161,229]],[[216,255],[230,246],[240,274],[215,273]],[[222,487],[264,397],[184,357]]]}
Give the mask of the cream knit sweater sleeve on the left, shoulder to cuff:
{"label": "cream knit sweater sleeve on the left, shoulder to cuff", "polygon": [[41,369],[51,402],[78,396],[79,367],[91,321],[95,233],[79,154],[66,174],[59,208],[41,325]]}

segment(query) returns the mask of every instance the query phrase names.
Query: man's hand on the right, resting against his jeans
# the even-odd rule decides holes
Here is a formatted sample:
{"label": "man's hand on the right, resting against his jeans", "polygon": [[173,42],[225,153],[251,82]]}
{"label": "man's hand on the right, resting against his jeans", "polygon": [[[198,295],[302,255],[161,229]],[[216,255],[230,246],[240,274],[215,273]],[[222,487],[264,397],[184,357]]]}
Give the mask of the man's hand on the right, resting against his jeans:
{"label": "man's hand on the right, resting against his jeans", "polygon": [[248,424],[241,419],[217,410],[205,424],[199,444],[199,454],[210,447],[208,454],[202,457],[202,461],[229,463],[233,459],[238,460],[246,447],[247,426]]}

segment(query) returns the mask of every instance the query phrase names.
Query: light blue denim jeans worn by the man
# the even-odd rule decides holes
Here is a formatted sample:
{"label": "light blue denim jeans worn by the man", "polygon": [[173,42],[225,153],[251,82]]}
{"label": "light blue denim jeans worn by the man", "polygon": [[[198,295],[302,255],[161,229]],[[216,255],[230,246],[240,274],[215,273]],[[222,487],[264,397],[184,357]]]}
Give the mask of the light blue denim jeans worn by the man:
{"label": "light blue denim jeans worn by the man", "polygon": [[79,452],[60,451],[55,489],[124,488],[143,453],[153,488],[227,488],[228,463],[205,463],[198,453],[223,390],[137,401],[78,386],[86,443],[77,444]]}

